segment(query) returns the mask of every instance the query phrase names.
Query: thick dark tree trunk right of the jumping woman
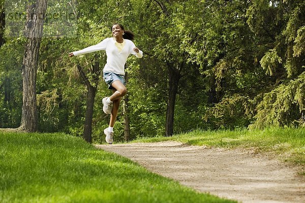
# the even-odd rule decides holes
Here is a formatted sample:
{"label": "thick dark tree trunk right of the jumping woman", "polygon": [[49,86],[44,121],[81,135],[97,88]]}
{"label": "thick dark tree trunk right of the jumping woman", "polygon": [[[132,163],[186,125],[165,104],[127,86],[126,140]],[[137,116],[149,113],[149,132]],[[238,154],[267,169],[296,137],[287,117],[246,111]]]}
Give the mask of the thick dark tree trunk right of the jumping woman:
{"label": "thick dark tree trunk right of the jumping woman", "polygon": [[178,84],[181,75],[178,70],[174,69],[172,64],[167,64],[169,70],[168,80],[168,100],[167,100],[167,112],[166,112],[166,127],[165,137],[170,137],[174,133],[174,110],[176,95],[178,91]]}

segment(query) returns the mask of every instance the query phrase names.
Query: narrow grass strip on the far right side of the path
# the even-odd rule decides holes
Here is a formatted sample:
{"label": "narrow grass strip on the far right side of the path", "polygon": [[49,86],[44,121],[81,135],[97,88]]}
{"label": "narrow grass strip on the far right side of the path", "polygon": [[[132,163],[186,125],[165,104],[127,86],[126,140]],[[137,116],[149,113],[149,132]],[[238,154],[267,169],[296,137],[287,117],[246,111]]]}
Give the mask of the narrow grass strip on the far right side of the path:
{"label": "narrow grass strip on the far right side of the path", "polygon": [[134,142],[160,141],[178,141],[190,145],[221,148],[254,148],[257,152],[272,152],[283,161],[305,166],[305,128],[194,130],[168,138],[147,138]]}

